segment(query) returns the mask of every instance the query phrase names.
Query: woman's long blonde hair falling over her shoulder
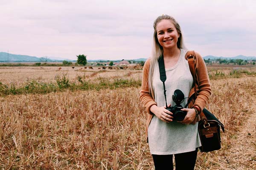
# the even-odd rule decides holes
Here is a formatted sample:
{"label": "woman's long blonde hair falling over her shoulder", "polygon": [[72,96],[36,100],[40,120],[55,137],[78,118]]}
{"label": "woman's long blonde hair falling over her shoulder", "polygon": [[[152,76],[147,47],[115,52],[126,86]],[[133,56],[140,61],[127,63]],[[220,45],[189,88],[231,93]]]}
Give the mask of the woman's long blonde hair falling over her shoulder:
{"label": "woman's long blonde hair falling over her shoulder", "polygon": [[157,17],[157,19],[154,20],[154,24],[153,24],[153,27],[154,27],[153,47],[152,47],[152,56],[150,61],[149,73],[148,73],[148,87],[149,87],[149,92],[152,96],[154,96],[153,85],[152,85],[154,65],[158,62],[159,57],[163,55],[163,47],[160,45],[157,39],[157,24],[160,23],[161,20],[172,21],[177,32],[180,34],[180,37],[178,38],[178,41],[177,41],[177,47],[186,49],[183,43],[183,36],[181,33],[180,25],[177,23],[177,21],[169,15],[161,15]]}

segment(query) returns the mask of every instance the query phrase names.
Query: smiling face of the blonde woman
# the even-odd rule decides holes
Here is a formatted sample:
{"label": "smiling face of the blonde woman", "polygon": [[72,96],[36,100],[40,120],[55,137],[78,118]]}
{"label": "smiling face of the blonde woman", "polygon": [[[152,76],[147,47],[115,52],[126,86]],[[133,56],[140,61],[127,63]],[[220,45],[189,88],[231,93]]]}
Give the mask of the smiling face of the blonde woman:
{"label": "smiling face of the blonde woman", "polygon": [[157,40],[165,48],[177,48],[180,34],[171,20],[161,20],[156,26]]}

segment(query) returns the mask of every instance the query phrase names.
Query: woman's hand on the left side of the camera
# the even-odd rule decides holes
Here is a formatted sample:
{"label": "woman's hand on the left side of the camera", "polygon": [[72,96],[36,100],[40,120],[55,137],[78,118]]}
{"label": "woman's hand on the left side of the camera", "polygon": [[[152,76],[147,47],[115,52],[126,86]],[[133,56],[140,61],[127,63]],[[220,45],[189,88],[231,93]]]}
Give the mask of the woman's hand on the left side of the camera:
{"label": "woman's hand on the left side of the camera", "polygon": [[[170,106],[171,104],[168,105],[168,107]],[[172,122],[172,119],[173,119],[172,112],[168,111],[166,109],[166,106],[158,107],[157,105],[152,105],[150,108],[150,111],[154,113],[154,115],[156,115],[163,122],[166,122],[166,123]]]}

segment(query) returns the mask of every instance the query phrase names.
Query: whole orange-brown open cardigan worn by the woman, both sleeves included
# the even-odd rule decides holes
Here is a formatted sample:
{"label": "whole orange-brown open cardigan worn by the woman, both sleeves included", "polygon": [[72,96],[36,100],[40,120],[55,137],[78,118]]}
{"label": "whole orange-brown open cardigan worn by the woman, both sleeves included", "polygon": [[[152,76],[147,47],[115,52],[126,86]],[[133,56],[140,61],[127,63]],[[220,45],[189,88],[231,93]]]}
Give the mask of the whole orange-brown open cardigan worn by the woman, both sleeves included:
{"label": "whole orange-brown open cardigan worn by the woman, both sleeves included", "polygon": [[[195,100],[192,100],[189,103],[188,108],[192,108],[194,105],[197,105],[200,108],[200,111],[202,111],[209,100],[209,96],[211,95],[211,87],[210,87],[208,72],[207,72],[206,65],[204,63],[204,59],[203,57],[201,57],[200,54],[196,52],[195,54],[196,54],[195,71],[198,75],[198,80],[199,80],[198,94],[197,94],[197,98]],[[145,107],[147,111],[146,136],[148,136],[148,125],[154,114],[150,111],[150,108],[152,105],[157,105],[157,103],[154,101],[154,96],[151,96],[148,88],[149,67],[150,67],[150,59],[147,59],[143,67],[142,85],[140,90],[140,101],[142,102],[143,107]],[[189,97],[192,96],[194,93],[195,93],[195,88],[193,86],[189,92]],[[198,115],[198,117],[192,122],[192,124],[195,124],[199,120],[200,120],[200,116]]]}

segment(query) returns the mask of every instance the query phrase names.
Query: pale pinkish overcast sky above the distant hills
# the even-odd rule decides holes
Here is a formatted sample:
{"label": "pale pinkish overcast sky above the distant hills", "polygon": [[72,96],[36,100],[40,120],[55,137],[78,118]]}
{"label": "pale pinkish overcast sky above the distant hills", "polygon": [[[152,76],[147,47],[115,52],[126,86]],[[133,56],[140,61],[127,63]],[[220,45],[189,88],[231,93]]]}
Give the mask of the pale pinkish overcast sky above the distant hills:
{"label": "pale pinkish overcast sky above the distant hills", "polygon": [[202,56],[256,56],[255,0],[0,0],[0,52],[77,59],[151,57],[154,20],[180,24]]}

